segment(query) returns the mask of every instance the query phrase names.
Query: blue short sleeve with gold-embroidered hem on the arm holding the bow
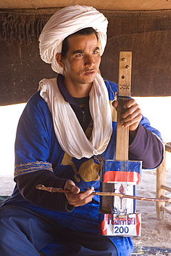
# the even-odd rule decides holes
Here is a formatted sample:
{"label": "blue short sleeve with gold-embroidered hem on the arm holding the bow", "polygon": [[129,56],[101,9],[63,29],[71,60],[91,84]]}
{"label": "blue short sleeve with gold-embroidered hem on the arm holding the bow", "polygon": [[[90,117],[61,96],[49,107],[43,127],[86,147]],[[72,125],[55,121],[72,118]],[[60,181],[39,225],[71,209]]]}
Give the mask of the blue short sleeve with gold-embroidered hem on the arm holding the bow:
{"label": "blue short sleeve with gold-embroidered hem on the arm holding the bow", "polygon": [[[21,114],[15,140],[15,176],[39,168],[52,171],[50,132],[52,120],[46,102],[36,93]],[[29,166],[28,166],[29,163]],[[40,170],[40,169],[39,169]]]}

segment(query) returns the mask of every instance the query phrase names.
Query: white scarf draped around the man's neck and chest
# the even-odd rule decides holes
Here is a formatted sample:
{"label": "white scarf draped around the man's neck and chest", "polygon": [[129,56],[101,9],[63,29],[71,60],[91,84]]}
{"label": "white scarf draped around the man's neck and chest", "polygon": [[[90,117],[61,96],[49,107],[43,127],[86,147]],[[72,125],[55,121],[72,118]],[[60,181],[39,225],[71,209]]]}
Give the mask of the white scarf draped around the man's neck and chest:
{"label": "white scarf draped around the man's neck and chest", "polygon": [[56,78],[41,80],[39,90],[52,113],[54,132],[64,152],[80,159],[90,158],[105,151],[112,134],[112,118],[108,90],[101,75],[97,73],[90,91],[92,141],[88,140],[72,107],[61,95]]}

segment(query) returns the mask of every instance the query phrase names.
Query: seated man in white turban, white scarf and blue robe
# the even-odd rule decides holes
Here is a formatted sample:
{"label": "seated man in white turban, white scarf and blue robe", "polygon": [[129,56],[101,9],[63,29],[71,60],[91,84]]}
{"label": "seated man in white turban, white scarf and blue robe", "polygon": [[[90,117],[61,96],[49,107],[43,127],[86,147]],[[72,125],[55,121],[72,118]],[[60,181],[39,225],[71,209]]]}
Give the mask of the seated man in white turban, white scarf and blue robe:
{"label": "seated man in white turban, white scarf and blue robe", "polygon": [[[117,84],[97,73],[107,24],[94,8],[69,6],[43,28],[41,58],[58,75],[40,82],[19,120],[17,185],[0,209],[1,255],[39,255],[41,250],[45,255],[126,256],[132,251],[130,237],[97,235],[99,196],[92,196],[99,190],[101,157],[115,154],[116,120],[109,101],[117,108]],[[163,156],[159,131],[142,117],[135,100],[124,107],[121,123],[130,129],[130,160],[157,167]],[[37,190],[40,183],[71,193]]]}

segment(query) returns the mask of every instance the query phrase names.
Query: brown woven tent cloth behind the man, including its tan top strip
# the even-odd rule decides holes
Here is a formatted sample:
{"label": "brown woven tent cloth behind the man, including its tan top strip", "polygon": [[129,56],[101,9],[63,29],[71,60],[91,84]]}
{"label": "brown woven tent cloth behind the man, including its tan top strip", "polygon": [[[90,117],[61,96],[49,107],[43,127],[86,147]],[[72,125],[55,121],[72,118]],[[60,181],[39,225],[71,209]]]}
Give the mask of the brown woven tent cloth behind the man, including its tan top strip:
{"label": "brown woven tent cloth behind the man, including its tan top strip", "polygon": [[1,0],[0,105],[26,102],[39,80],[55,77],[39,57],[39,34],[56,10],[74,4],[93,6],[108,18],[103,77],[117,82],[119,52],[132,51],[132,95],[171,95],[170,0]]}

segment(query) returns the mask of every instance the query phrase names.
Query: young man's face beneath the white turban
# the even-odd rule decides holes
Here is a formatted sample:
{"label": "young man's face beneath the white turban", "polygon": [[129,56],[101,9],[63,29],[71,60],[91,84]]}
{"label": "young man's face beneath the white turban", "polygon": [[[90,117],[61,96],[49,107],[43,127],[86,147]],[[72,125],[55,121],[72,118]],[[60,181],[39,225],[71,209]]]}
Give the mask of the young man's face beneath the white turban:
{"label": "young man's face beneath the white turban", "polygon": [[101,62],[96,35],[72,35],[68,46],[63,58],[65,80],[73,85],[92,83]]}

